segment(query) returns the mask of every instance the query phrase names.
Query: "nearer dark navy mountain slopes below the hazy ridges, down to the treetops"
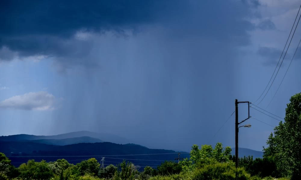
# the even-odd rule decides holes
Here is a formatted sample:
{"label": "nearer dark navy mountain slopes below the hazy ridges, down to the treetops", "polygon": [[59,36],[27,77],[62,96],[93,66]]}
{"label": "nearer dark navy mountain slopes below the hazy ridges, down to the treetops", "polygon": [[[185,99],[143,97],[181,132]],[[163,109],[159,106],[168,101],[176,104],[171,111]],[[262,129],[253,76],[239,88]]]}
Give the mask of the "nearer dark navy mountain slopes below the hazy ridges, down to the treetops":
{"label": "nearer dark navy mountain slopes below the hazy ridges, down to the treetops", "polygon": [[[174,161],[177,152],[165,149],[148,149],[135,144],[115,143],[78,143],[66,146],[56,146],[31,141],[0,141],[0,152],[11,159],[12,164],[19,166],[30,159],[36,161],[56,161],[66,159],[76,164],[82,160],[105,157],[106,164],[118,164],[125,159],[136,165],[157,167],[164,161]],[[189,158],[189,154],[181,154],[181,158]]]}

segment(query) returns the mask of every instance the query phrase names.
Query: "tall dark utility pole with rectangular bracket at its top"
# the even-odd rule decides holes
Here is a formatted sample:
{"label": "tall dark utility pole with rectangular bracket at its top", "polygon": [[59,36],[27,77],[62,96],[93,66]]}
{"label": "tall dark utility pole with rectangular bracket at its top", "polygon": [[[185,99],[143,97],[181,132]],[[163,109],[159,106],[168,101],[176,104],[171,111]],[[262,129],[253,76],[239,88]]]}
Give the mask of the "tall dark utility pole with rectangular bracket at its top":
{"label": "tall dark utility pole with rectangular bracket at its top", "polygon": [[[242,101],[242,102],[238,102],[237,99],[235,99],[235,167],[238,167],[238,125],[244,121],[246,121],[247,119],[245,119],[242,122],[238,122],[238,104],[239,103],[248,103],[248,118],[249,119],[250,116],[250,102],[249,101]],[[248,127],[248,126],[245,126]]]}

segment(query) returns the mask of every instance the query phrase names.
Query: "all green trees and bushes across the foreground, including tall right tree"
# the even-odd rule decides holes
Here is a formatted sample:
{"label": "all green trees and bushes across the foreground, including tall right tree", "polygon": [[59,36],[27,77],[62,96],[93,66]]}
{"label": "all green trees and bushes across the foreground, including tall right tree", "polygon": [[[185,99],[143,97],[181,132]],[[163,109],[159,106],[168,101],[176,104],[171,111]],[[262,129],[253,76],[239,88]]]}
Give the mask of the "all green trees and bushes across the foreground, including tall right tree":
{"label": "all green trees and bushes across the foreground, including tall right tree", "polygon": [[[138,166],[123,161],[102,167],[95,158],[84,160],[76,165],[65,159],[54,162],[29,160],[19,167],[0,153],[0,180],[7,179],[55,179],[55,180],[285,180],[301,179],[301,93],[290,98],[284,122],[268,137],[268,147],[263,148],[263,158],[239,158],[235,168],[235,157],[230,147],[217,143],[213,147],[193,145],[190,158],[175,163],[166,161],[157,169]],[[275,178],[272,178],[275,177]],[[283,178],[280,178],[283,177]]]}

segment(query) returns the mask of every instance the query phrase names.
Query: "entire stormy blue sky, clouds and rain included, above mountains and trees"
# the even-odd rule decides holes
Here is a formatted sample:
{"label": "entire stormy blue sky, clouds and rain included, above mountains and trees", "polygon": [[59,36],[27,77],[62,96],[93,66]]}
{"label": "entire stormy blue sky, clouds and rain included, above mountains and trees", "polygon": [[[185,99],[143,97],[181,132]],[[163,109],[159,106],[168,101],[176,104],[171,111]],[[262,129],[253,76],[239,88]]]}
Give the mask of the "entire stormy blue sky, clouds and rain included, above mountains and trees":
{"label": "entire stormy blue sky, clouds and rain included, above mountains and trees", "polygon": [[[88,130],[186,151],[192,144],[234,146],[234,116],[213,135],[236,98],[260,96],[300,6],[297,0],[22,3],[0,7],[0,135]],[[263,109],[301,38],[299,26],[258,105]],[[300,66],[299,49],[267,111],[285,116],[301,89]],[[239,110],[243,120],[247,106]],[[250,115],[278,124],[252,108]],[[240,130],[240,147],[262,150],[273,128],[246,123],[252,128]]]}

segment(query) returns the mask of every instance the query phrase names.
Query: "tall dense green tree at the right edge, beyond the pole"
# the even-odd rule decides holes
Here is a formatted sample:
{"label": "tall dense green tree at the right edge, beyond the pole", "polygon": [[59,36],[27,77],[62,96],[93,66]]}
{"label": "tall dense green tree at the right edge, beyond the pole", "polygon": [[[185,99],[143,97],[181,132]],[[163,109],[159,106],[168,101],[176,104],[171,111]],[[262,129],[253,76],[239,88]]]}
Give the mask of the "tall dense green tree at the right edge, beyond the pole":
{"label": "tall dense green tree at the right edge, beyond the pole", "polygon": [[275,161],[282,176],[301,179],[301,93],[293,95],[287,104],[284,122],[268,137],[264,157]]}

